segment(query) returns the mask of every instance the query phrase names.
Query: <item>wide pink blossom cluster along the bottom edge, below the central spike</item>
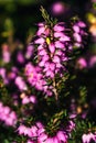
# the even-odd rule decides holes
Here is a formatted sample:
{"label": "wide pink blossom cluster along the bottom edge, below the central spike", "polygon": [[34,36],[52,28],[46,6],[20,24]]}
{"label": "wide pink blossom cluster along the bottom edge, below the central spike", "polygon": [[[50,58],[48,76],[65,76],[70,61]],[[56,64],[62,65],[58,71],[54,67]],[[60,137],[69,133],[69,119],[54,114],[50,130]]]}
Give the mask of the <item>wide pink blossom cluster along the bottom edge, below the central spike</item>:
{"label": "wide pink blossom cluster along the bottom edge, below the central spike", "polygon": [[41,122],[36,122],[35,125],[28,128],[21,124],[18,128],[18,132],[20,135],[28,135],[28,143],[58,143],[58,142],[67,142],[67,134],[63,130],[58,130],[54,136],[47,135],[44,125]]}

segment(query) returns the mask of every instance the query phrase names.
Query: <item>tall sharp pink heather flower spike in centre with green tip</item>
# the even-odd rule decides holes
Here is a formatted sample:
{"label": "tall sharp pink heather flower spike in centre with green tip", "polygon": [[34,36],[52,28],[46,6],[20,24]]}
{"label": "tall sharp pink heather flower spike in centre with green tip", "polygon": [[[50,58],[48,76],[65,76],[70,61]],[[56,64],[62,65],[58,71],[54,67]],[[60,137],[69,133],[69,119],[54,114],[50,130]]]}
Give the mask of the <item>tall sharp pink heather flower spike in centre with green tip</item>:
{"label": "tall sharp pink heather flower spike in centre with green tip", "polygon": [[38,45],[36,64],[42,72],[42,79],[45,79],[46,82],[49,79],[52,80],[52,92],[54,92],[57,100],[58,94],[55,78],[56,75],[61,78],[63,73],[66,72],[64,64],[68,59],[66,53],[71,51],[71,38],[66,34],[64,22],[57,22],[56,19],[50,18],[43,7],[41,7],[41,12],[45,22],[38,24],[36,38],[33,40],[33,45]]}

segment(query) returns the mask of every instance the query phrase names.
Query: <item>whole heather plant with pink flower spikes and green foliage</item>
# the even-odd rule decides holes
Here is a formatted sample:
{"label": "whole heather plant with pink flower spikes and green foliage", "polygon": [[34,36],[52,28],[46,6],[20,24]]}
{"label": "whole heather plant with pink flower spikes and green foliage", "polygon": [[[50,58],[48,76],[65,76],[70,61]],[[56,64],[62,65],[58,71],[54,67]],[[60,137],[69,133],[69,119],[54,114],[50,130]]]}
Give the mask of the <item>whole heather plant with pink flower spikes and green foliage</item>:
{"label": "whole heather plant with pink flower spikes and green foliage", "polygon": [[[81,70],[87,62],[87,28],[78,18],[67,23],[51,18],[23,51],[4,45],[0,59],[1,143],[95,143],[96,125],[88,119],[87,86]],[[15,62],[13,61],[15,59]],[[4,133],[7,136],[4,138]]]}

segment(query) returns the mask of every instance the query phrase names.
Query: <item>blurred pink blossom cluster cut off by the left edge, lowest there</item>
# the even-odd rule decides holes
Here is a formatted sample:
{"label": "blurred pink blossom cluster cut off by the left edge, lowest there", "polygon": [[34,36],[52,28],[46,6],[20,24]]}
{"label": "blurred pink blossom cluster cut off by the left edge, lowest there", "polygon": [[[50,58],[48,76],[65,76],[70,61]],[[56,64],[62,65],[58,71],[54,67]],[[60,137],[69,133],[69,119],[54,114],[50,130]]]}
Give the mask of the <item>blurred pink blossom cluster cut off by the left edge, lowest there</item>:
{"label": "blurred pink blossom cluster cut off by the left edge, lowest there", "polygon": [[8,106],[3,106],[0,101],[0,121],[4,122],[6,125],[14,127],[17,124],[18,118],[14,111],[12,111]]}

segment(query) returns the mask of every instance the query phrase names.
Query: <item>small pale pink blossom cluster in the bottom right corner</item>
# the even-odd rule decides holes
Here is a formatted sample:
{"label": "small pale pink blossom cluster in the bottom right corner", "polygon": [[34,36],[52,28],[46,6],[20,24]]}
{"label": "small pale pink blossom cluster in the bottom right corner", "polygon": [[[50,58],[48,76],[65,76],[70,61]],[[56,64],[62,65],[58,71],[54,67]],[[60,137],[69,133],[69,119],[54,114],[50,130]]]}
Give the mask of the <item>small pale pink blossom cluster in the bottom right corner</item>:
{"label": "small pale pink blossom cluster in the bottom right corner", "polygon": [[87,134],[83,134],[82,141],[83,141],[83,143],[96,142],[96,133],[89,132]]}

